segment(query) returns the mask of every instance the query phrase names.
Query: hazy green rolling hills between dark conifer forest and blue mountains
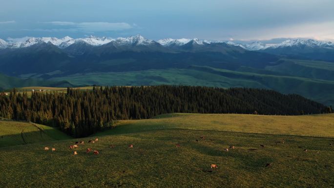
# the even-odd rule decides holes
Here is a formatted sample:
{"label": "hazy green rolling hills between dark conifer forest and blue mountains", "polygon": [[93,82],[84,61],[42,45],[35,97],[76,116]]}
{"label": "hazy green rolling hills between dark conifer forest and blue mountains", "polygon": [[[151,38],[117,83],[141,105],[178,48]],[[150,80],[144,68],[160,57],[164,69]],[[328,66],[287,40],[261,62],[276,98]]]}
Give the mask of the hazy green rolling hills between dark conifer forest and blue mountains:
{"label": "hazy green rolling hills between dark conifer forest and blue mountains", "polygon": [[[100,84],[100,85],[205,85],[214,87],[252,87],[266,88],[279,91],[281,93],[296,93],[311,100],[326,104],[334,105],[334,81],[324,80],[324,77],[332,76],[334,72],[324,73],[315,72],[316,75],[324,77],[303,77],[308,69],[297,76],[291,76],[287,70],[278,70],[271,68],[287,75],[273,75],[263,70],[256,73],[245,71],[231,71],[226,69],[211,68],[206,66],[192,66],[188,69],[164,69],[164,70],[145,70],[131,72],[98,72],[87,74],[75,74],[66,77],[52,78],[52,81],[66,80],[75,85],[83,84]],[[285,66],[284,66],[285,67]],[[306,66],[305,66],[306,67]],[[293,69],[294,72],[297,70]],[[321,79],[319,79],[321,78]]]}

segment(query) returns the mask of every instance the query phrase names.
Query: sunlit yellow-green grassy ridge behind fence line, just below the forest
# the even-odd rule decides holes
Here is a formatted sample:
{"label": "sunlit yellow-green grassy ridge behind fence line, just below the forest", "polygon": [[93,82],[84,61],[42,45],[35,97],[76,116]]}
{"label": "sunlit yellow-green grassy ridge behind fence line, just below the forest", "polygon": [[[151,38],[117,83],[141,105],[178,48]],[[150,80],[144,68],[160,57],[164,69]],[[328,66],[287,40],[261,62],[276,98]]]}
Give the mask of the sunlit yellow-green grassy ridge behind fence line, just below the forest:
{"label": "sunlit yellow-green grassy ridge behind fence line, just below the forest", "polygon": [[193,129],[261,134],[334,137],[334,114],[267,116],[249,114],[164,114],[147,120],[123,120],[97,135],[154,129]]}

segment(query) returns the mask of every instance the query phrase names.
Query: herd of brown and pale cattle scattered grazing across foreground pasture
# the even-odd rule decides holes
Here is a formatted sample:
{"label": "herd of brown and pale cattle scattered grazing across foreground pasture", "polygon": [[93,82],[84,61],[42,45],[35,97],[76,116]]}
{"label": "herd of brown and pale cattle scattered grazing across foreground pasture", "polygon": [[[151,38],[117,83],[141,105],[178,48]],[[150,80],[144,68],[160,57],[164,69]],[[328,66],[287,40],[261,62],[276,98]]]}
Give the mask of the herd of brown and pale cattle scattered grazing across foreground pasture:
{"label": "herd of brown and pale cattle scattered grazing across foreground pasture", "polygon": [[[204,140],[205,137],[204,137],[204,136],[201,136],[200,139]],[[92,144],[94,144],[95,142],[98,142],[98,141],[99,141],[99,139],[98,139],[98,138],[95,138],[95,140],[89,140],[88,143],[92,143]],[[196,141],[198,142],[198,140],[196,140]],[[84,141],[78,141],[78,142],[75,142],[75,145],[68,146],[68,148],[69,148],[69,149],[79,148],[78,145],[80,145],[80,144],[83,145],[83,144],[84,144]],[[276,142],[276,145],[277,145],[277,144],[284,144],[284,139],[282,139],[281,141],[277,141],[277,142]],[[261,147],[265,147],[264,145],[260,145],[260,146],[261,146]],[[330,143],[329,146],[332,146],[332,143]],[[180,144],[176,144],[176,147],[180,147]],[[115,148],[115,145],[110,145],[110,148]],[[128,146],[128,148],[133,148],[133,145],[130,144],[130,145]],[[45,151],[48,151],[49,149],[50,149],[50,147],[47,147],[47,146],[44,147],[44,150],[45,150]],[[230,149],[235,149],[235,146],[230,146]],[[52,151],[56,151],[56,148],[52,148],[51,150],[52,150]],[[86,153],[87,153],[87,154],[90,153],[91,151],[92,151],[91,148],[87,148],[87,149],[86,149]],[[225,148],[223,151],[228,152],[228,151],[229,151],[229,148]],[[304,151],[307,152],[307,149],[304,149]],[[98,154],[99,154],[99,151],[98,151],[98,150],[94,150],[93,153],[94,153],[95,155],[98,155]],[[319,151],[317,151],[317,153],[319,153]],[[78,152],[77,152],[77,151],[74,151],[74,152],[73,152],[73,155],[78,155]],[[211,164],[210,167],[211,167],[211,168],[210,168],[211,170],[209,170],[209,171],[212,171],[213,168],[218,168],[218,166],[217,166],[216,164]],[[266,167],[271,167],[271,164],[268,163],[268,164],[266,165]]]}

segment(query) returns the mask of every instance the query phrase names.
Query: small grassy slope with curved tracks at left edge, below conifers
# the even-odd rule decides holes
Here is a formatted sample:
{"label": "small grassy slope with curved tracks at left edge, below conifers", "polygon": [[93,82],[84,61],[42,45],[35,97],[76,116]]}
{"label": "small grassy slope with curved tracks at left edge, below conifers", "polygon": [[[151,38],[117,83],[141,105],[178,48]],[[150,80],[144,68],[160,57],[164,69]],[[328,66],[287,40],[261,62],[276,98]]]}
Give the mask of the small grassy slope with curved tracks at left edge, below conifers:
{"label": "small grassy slope with curved tracks at left edge, below conifers", "polygon": [[0,121],[0,147],[70,138],[60,130],[45,125]]}

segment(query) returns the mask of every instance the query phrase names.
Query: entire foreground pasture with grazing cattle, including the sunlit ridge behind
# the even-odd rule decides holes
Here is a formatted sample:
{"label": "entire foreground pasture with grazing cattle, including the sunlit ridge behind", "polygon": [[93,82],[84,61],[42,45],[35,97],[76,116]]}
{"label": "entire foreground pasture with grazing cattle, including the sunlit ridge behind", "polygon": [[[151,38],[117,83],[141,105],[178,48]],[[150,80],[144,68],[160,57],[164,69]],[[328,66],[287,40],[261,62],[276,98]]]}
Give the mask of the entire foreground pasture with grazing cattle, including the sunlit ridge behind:
{"label": "entire foreground pasture with grazing cattle, including the sunlit ridge behind", "polygon": [[[249,127],[245,130],[262,129],[266,123],[284,132],[290,130],[285,125],[290,122],[299,129],[305,125],[305,134],[311,135],[333,118],[328,114],[165,114],[145,121],[119,121],[114,129],[89,138],[0,148],[0,169],[6,169],[0,176],[0,187],[333,187],[334,148],[329,146],[333,138],[212,131],[244,125],[248,120]],[[315,125],[307,128],[311,124]],[[158,129],[161,125],[202,130]],[[331,132],[333,125],[323,129]],[[333,132],[330,134],[334,136]],[[206,138],[202,140],[200,136]],[[87,143],[96,137],[98,142]],[[276,146],[275,142],[281,139],[285,143]],[[85,144],[76,149],[78,155],[74,156],[68,146],[79,140]],[[127,148],[129,144],[134,148]],[[176,144],[181,147],[176,148]],[[236,148],[223,151],[232,145]],[[44,146],[54,147],[56,151],[44,151]],[[86,154],[87,147],[99,150],[100,154]],[[265,167],[267,163],[271,167]],[[216,164],[218,169],[208,172],[211,164]]]}

